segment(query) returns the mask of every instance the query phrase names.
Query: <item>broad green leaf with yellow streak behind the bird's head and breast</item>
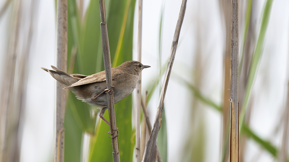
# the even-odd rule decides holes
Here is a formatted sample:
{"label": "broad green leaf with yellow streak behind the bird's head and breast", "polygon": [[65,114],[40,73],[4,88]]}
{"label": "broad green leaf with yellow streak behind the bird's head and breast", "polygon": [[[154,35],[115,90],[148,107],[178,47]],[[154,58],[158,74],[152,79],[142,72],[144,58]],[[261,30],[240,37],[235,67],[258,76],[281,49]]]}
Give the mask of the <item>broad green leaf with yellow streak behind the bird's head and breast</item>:
{"label": "broad green leaf with yellow streak behind the bird's head and breast", "polygon": [[[90,2],[93,3],[93,2]],[[135,0],[105,3],[110,44],[111,62],[115,66],[132,60],[132,36]],[[97,10],[99,15],[99,9]],[[89,15],[90,13],[88,13]],[[124,17],[125,16],[125,17]],[[89,16],[88,16],[89,17]],[[100,23],[100,22],[99,22]],[[98,24],[98,26],[100,26]],[[99,38],[98,38],[99,39]],[[101,41],[101,39],[99,39]],[[102,54],[102,46],[101,48]],[[114,57],[117,55],[117,57]],[[98,60],[99,61],[99,60]],[[131,124],[132,98],[131,95],[115,104],[116,126],[118,127],[118,148],[121,161],[132,161],[134,141],[131,141],[134,130]],[[108,119],[108,111],[105,112]],[[90,143],[89,161],[112,161],[112,141],[108,137],[109,126],[101,121],[98,131]]]}

